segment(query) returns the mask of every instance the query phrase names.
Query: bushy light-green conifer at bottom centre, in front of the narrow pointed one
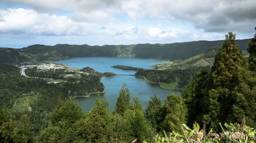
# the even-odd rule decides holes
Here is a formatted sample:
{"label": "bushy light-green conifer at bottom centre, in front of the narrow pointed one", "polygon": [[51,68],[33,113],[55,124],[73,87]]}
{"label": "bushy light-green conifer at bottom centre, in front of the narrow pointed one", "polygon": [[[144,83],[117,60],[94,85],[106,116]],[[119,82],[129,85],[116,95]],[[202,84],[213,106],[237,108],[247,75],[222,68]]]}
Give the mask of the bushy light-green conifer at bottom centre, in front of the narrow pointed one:
{"label": "bushy light-green conifer at bottom centre, in front of the narrow pointed one", "polygon": [[133,98],[123,116],[114,114],[110,133],[111,142],[133,142],[135,139],[137,142],[143,140],[152,142],[155,130],[144,117],[143,107],[138,97]]}

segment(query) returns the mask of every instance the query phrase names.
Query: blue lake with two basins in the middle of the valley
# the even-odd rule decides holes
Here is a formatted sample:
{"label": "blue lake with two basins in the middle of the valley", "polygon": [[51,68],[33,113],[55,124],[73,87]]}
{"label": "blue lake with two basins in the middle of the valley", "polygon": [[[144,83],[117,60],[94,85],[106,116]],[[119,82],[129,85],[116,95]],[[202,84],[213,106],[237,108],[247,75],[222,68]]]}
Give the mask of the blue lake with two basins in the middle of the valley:
{"label": "blue lake with two basins in the middle of the valley", "polygon": [[[101,82],[103,83],[106,93],[100,94],[99,96],[105,97],[109,102],[109,107],[111,111],[114,110],[116,99],[119,96],[119,90],[122,88],[122,84],[126,83],[126,87],[129,89],[131,93],[131,98],[133,96],[138,96],[142,106],[146,108],[148,101],[151,96],[154,96],[154,93],[164,101],[166,99],[166,95],[170,93],[181,94],[180,91],[172,91],[172,90],[164,90],[159,88],[159,85],[156,83],[148,83],[143,78],[128,76],[131,74],[135,74],[136,71],[127,71],[121,69],[115,69],[111,66],[114,65],[124,65],[124,66],[132,66],[136,68],[143,69],[151,69],[150,66],[163,64],[157,62],[156,59],[142,59],[142,58],[123,58],[123,57],[90,57],[90,58],[73,58],[69,60],[57,61],[55,63],[59,64],[70,64],[69,68],[79,68],[90,67],[99,72],[113,72],[116,74],[126,74],[126,75],[117,75],[111,77],[103,77],[101,78]],[[86,111],[89,111],[93,105],[94,101],[98,97],[97,94],[92,94],[88,98],[78,97],[76,100],[82,106],[82,108]]]}

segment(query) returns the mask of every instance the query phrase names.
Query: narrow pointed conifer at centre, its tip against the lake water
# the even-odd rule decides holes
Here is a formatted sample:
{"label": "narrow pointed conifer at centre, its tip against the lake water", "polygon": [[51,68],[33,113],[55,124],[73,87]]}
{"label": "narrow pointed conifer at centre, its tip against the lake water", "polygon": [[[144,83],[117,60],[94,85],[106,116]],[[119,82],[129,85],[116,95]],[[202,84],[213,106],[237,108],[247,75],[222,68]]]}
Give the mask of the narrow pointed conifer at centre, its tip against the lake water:
{"label": "narrow pointed conifer at centre, its tip against the lake water", "polygon": [[115,113],[119,113],[123,116],[124,112],[129,108],[130,104],[130,93],[129,90],[126,88],[126,84],[124,83],[122,85],[122,89],[119,91],[119,96],[116,100],[116,106],[115,106]]}

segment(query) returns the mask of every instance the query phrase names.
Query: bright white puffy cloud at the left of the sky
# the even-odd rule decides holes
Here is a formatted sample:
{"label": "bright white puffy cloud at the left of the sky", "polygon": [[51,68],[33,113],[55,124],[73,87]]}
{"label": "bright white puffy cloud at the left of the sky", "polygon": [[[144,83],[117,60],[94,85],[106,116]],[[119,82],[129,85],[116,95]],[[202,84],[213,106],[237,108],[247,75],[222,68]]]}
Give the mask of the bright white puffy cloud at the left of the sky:
{"label": "bright white puffy cloud at the left of the sky", "polygon": [[1,33],[27,33],[40,35],[85,35],[90,24],[74,22],[67,16],[38,13],[34,10],[6,9],[0,10]]}

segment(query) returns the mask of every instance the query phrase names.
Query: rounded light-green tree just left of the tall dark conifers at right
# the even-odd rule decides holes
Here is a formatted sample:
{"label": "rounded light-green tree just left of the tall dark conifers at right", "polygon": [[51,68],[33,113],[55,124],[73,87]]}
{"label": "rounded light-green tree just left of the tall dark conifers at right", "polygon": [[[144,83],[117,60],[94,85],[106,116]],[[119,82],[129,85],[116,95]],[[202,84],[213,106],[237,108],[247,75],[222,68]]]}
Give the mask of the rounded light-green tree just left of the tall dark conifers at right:
{"label": "rounded light-green tree just left of the tall dark conifers at right", "polygon": [[167,95],[164,101],[166,116],[162,124],[162,130],[167,132],[181,132],[180,125],[185,124],[187,119],[187,107],[182,96],[174,93]]}

